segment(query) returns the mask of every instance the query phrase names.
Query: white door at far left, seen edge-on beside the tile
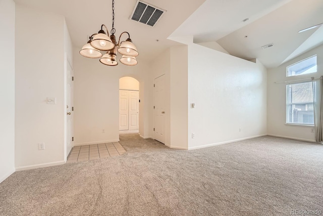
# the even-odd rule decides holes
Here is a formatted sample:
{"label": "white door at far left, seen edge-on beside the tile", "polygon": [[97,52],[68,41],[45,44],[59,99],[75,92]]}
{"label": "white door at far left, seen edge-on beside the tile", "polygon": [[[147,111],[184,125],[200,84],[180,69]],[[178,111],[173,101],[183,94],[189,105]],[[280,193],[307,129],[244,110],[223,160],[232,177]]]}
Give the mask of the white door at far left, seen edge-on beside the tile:
{"label": "white door at far left, seen edge-on beside the tile", "polygon": [[73,69],[69,62],[67,63],[67,73],[66,73],[66,157],[70,153],[73,137]]}

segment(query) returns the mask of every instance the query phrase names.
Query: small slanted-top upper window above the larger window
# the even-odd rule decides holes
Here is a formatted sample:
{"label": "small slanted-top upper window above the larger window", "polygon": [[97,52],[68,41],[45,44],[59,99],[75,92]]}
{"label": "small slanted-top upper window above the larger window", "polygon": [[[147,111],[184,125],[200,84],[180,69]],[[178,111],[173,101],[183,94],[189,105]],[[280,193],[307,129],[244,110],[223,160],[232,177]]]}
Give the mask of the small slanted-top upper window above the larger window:
{"label": "small slanted-top upper window above the larger window", "polygon": [[287,76],[298,76],[317,72],[316,55],[287,67]]}

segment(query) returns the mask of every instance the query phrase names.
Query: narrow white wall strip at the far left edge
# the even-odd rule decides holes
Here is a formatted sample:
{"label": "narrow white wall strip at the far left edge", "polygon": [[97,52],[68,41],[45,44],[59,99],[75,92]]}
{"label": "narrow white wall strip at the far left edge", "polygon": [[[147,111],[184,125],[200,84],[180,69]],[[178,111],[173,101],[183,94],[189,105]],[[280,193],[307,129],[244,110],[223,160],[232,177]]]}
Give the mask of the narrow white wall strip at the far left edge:
{"label": "narrow white wall strip at the far left edge", "polygon": [[15,3],[0,1],[0,183],[15,171]]}

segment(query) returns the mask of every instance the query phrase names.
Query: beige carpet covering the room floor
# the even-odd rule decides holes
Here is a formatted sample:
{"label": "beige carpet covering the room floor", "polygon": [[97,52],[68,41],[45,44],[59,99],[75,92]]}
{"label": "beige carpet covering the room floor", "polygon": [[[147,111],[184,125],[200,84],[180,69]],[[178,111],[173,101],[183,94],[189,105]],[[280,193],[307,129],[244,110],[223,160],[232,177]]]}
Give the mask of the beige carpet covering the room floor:
{"label": "beige carpet covering the room floor", "polygon": [[120,157],[15,172],[0,184],[0,215],[323,211],[323,145],[262,137],[185,151],[120,139]]}

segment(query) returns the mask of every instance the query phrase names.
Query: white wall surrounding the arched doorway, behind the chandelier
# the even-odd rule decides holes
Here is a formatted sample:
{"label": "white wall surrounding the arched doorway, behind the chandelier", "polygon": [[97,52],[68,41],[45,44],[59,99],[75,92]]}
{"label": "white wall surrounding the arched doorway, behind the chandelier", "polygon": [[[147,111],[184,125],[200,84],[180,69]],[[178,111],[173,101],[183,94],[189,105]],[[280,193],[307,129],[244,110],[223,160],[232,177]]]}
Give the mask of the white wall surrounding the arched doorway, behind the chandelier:
{"label": "white wall surrounding the arched doorway, behind the chandelier", "polygon": [[[106,66],[74,50],[74,145],[119,141],[119,79],[131,76],[140,82],[139,133],[150,137],[150,74],[147,64]],[[150,85],[150,86],[149,86]],[[105,133],[102,133],[104,129]]]}

